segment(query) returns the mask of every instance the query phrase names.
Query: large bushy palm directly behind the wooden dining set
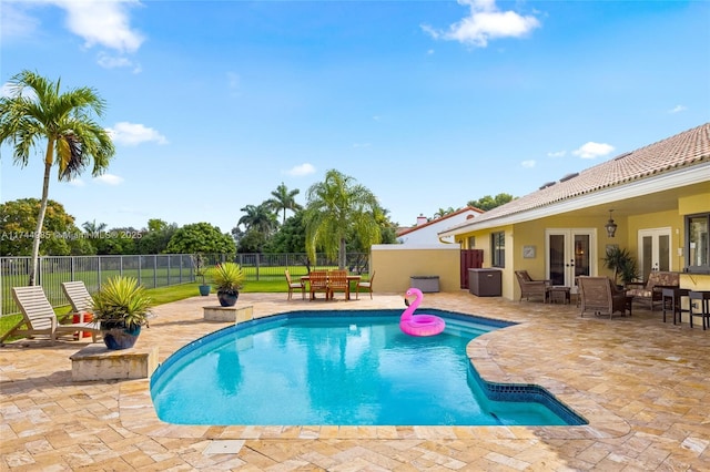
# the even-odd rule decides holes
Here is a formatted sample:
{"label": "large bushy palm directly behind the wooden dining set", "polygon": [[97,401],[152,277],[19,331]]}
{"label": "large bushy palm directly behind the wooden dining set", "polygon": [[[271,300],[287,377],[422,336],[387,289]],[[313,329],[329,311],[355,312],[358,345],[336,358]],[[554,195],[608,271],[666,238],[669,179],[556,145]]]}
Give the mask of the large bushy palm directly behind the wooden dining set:
{"label": "large bushy palm directly behind the wooden dining set", "polygon": [[353,177],[331,170],[325,181],[308,188],[305,211],[306,252],[315,263],[316,246],[345,268],[345,238],[356,234],[363,245],[379,243],[379,225],[375,209],[379,207],[377,197],[366,187],[355,183]]}

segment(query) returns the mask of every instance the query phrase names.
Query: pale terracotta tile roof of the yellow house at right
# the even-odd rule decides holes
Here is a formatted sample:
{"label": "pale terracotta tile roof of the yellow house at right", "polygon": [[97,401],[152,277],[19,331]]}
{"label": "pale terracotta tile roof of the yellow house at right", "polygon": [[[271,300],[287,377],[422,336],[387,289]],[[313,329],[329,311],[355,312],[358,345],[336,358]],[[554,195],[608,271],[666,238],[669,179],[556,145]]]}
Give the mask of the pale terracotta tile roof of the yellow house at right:
{"label": "pale terracotta tile roof of the yellow house at right", "polygon": [[[545,209],[557,204],[580,199],[588,195],[626,188],[630,184],[658,177],[679,170],[710,164],[710,123],[702,124],[674,136],[649,144],[630,153],[618,155],[607,162],[579,173],[566,175],[559,182],[550,182],[524,197],[514,199],[454,228],[439,233],[440,237],[460,234],[480,227],[495,226],[495,223],[510,224],[532,219],[523,215],[532,215],[536,209]],[[708,179],[710,165],[704,166],[706,174],[692,174],[696,179]],[[616,195],[616,194],[615,194]],[[616,195],[615,198],[619,198]],[[604,203],[604,202],[599,202]],[[562,208],[564,205],[560,205]],[[565,211],[574,209],[571,205]],[[561,213],[561,211],[559,212]],[[489,224],[485,224],[488,222]]]}

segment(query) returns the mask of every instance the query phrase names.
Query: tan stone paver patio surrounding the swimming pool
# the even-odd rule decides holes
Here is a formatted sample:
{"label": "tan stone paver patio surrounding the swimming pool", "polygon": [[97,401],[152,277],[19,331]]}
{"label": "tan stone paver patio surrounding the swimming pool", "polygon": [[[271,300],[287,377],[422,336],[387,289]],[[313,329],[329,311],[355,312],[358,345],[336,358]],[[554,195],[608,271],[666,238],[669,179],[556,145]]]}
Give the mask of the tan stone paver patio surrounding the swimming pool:
{"label": "tan stone paver patio surrounding the swimming pool", "polygon": [[[164,360],[227,326],[205,321],[215,296],[163,305],[136,346]],[[402,308],[402,295],[308,301],[242,294],[254,316],[300,309]],[[518,326],[468,346],[489,381],[540,384],[585,427],[182,427],[158,420],[149,381],[72,382],[81,341],[0,348],[1,470],[710,470],[710,331],[633,317],[580,318],[574,305],[468,291],[424,306]]]}

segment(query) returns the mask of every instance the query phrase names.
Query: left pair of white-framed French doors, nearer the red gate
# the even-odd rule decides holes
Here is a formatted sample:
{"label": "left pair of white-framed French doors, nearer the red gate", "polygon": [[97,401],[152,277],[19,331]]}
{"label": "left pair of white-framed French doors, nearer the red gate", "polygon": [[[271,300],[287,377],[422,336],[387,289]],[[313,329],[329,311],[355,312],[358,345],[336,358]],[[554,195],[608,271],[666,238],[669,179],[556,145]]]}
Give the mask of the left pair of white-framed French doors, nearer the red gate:
{"label": "left pair of white-framed French doors, nearer the red gate", "polygon": [[596,273],[596,238],[594,228],[557,228],[545,232],[546,278],[552,285],[575,287],[575,279]]}

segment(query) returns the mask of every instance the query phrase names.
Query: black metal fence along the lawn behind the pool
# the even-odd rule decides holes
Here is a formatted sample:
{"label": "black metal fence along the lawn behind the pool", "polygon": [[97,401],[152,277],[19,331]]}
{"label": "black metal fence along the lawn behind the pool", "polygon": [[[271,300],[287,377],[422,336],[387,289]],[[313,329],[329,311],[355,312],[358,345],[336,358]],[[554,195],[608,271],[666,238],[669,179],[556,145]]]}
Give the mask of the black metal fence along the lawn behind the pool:
{"label": "black metal fence along the lawn behind the pool", "polygon": [[[242,266],[246,280],[283,279],[284,270],[292,275],[306,275],[314,268],[337,266],[324,255],[317,255],[315,264],[305,254],[207,254],[204,267],[227,260]],[[29,281],[30,257],[0,257],[0,316],[19,312],[12,299],[11,288]],[[347,268],[354,274],[367,273],[368,256],[365,253],[347,255]],[[196,280],[195,258],[190,254],[159,254],[131,256],[42,256],[39,258],[37,285],[41,285],[52,306],[67,305],[62,294],[63,281],[83,280],[90,293],[112,276],[135,277],[146,288],[168,287]]]}

